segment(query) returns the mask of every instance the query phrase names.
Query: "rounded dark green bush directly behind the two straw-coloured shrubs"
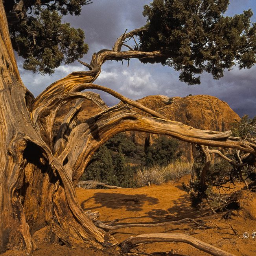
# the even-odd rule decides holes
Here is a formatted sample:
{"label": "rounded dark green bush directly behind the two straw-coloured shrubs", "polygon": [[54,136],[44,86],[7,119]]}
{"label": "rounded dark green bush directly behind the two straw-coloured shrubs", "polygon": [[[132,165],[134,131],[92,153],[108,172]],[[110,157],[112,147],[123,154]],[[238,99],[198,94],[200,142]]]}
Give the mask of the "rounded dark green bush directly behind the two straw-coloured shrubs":
{"label": "rounded dark green bush directly behind the two straw-coloured shrubs", "polygon": [[145,165],[146,166],[166,166],[171,160],[181,155],[177,152],[179,143],[173,138],[160,136],[146,150]]}

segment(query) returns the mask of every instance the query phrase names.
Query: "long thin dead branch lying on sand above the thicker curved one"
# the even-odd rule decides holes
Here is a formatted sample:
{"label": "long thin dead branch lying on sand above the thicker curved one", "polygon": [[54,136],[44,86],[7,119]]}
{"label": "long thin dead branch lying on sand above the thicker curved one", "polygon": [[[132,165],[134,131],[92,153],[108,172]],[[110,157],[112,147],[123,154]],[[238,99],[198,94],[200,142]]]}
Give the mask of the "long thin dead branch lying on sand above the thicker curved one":
{"label": "long thin dead branch lying on sand above the thicker curved one", "polygon": [[155,223],[155,224],[134,223],[134,224],[123,224],[123,225],[116,225],[116,226],[113,226],[112,224],[114,222],[117,222],[117,220],[114,220],[114,222],[111,221],[111,225],[106,225],[106,224],[102,223],[101,221],[96,221],[95,225],[99,228],[104,228],[106,230],[116,230],[119,228],[131,228],[131,227],[160,227],[160,226],[165,226],[165,225],[184,223],[184,222],[188,222],[188,221],[193,222],[196,225],[199,225],[202,227],[213,228],[213,227],[206,226],[202,223],[199,223],[199,222],[195,221],[194,219],[190,219],[190,218],[180,219],[179,221],[168,221],[168,222]]}

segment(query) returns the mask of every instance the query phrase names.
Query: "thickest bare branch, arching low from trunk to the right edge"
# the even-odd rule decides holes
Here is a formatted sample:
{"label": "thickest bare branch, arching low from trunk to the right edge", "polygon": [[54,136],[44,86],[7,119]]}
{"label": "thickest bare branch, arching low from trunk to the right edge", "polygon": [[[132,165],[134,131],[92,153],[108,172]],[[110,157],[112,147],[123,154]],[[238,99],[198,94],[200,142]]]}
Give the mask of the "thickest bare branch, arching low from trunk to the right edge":
{"label": "thickest bare branch, arching low from trunk to the right edge", "polygon": [[59,160],[63,162],[68,159],[66,169],[72,172],[70,175],[74,184],[78,182],[94,152],[103,143],[117,133],[131,130],[165,134],[195,144],[235,147],[250,153],[254,153],[256,149],[256,145],[241,138],[229,138],[230,131],[202,131],[179,122],[140,116],[125,105],[118,104],[90,118],[86,123],[77,125],[70,133]]}

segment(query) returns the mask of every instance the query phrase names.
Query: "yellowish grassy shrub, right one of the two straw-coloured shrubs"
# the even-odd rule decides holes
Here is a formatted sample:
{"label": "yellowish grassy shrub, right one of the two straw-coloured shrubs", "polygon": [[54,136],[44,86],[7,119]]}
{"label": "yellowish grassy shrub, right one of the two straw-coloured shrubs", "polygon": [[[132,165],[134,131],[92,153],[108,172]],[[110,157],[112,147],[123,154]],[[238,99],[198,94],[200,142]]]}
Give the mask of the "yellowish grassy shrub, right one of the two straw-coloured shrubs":
{"label": "yellowish grassy shrub, right one of the two straw-coloured shrubs", "polygon": [[178,180],[182,176],[191,173],[193,164],[184,160],[176,160],[170,162],[164,167],[166,180]]}

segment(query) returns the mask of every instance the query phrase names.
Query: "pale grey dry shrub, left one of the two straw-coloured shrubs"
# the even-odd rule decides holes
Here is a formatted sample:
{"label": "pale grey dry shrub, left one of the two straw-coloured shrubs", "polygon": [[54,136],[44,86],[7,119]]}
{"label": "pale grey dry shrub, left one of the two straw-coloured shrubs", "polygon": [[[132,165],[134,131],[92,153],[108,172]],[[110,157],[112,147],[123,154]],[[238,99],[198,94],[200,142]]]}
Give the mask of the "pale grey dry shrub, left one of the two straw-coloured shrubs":
{"label": "pale grey dry shrub, left one of the two straw-coloured shrubs", "polygon": [[160,185],[165,181],[164,168],[158,165],[142,167],[137,170],[136,181],[138,186],[150,185],[151,183]]}

